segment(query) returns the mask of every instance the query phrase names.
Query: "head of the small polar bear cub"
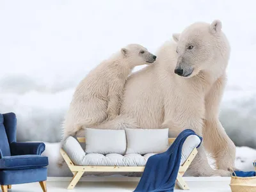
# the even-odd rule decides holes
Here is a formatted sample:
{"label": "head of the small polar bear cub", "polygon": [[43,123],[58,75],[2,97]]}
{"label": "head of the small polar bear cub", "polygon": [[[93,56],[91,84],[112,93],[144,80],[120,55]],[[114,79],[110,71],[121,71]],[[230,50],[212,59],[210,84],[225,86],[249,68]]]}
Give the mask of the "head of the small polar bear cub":
{"label": "head of the small polar bear cub", "polygon": [[156,56],[139,44],[129,44],[121,49],[124,58],[131,67],[154,63]]}

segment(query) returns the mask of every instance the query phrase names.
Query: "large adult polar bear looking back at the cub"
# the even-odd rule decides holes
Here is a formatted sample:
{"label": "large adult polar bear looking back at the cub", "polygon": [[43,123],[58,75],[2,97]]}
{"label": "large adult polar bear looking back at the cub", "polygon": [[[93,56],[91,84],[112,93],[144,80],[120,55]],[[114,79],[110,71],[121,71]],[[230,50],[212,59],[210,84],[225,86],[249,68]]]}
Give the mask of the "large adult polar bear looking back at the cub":
{"label": "large adult polar bear looking back at the cub", "polygon": [[[204,136],[204,145],[189,173],[228,176],[236,147],[218,119],[230,55],[221,22],[197,22],[173,38],[177,43],[166,42],[154,65],[129,77],[120,115],[99,127],[193,129]],[[207,163],[204,148],[216,159],[217,170]]]}

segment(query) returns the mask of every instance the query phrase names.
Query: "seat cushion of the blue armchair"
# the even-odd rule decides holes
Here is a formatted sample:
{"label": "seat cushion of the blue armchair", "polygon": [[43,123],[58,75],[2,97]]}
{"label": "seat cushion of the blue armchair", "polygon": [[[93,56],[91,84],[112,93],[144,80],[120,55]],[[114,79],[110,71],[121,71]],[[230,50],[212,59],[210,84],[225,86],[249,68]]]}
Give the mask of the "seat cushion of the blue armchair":
{"label": "seat cushion of the blue armchair", "polygon": [[38,155],[5,156],[0,159],[0,170],[26,170],[48,165],[48,157]]}

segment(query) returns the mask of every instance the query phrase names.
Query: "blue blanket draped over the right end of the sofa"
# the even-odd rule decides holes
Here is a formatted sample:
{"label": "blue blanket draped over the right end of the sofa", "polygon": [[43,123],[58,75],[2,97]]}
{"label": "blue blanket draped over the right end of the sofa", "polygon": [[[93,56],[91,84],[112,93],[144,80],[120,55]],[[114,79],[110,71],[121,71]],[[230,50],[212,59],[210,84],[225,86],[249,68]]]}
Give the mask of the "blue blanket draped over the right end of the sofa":
{"label": "blue blanket draped over the right end of the sofa", "polygon": [[172,192],[179,172],[182,145],[193,134],[196,135],[190,129],[182,131],[166,152],[149,157],[134,192]]}

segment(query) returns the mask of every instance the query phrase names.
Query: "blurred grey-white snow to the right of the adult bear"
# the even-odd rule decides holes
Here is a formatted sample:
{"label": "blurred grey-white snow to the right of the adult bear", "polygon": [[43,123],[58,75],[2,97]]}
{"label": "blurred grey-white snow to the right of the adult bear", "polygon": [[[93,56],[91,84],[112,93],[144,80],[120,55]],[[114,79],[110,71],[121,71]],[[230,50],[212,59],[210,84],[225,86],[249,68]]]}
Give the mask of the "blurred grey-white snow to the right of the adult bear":
{"label": "blurred grey-white snow to the right of the adult bear", "polygon": [[256,148],[255,90],[226,90],[220,120],[237,146]]}

